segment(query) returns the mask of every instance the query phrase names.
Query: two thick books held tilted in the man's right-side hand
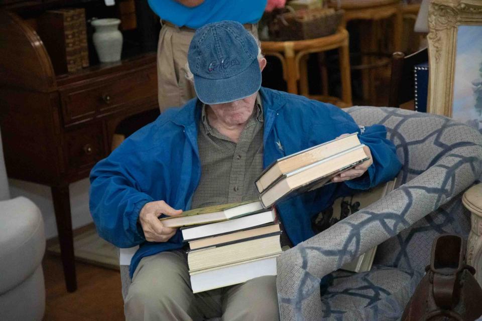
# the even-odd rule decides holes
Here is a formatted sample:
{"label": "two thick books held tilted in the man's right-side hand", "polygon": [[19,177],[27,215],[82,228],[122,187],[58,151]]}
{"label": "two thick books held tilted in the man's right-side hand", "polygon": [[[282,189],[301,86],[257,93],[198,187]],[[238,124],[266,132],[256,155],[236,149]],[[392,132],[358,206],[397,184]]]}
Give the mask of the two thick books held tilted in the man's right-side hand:
{"label": "two thick books held tilted in the man's right-side hand", "polygon": [[330,183],[369,159],[357,133],[348,134],[279,158],[256,181],[264,207]]}

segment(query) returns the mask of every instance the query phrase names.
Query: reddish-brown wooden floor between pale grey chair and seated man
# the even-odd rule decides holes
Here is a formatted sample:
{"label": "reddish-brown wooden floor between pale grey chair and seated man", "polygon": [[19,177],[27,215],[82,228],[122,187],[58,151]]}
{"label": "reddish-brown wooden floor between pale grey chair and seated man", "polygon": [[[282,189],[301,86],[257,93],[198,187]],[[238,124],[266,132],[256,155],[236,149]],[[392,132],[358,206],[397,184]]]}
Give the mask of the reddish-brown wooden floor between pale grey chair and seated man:
{"label": "reddish-brown wooden floor between pale grey chair and seated man", "polygon": [[118,271],[81,262],[77,291],[67,292],[60,257],[46,253],[42,266],[46,288],[44,321],[124,320]]}

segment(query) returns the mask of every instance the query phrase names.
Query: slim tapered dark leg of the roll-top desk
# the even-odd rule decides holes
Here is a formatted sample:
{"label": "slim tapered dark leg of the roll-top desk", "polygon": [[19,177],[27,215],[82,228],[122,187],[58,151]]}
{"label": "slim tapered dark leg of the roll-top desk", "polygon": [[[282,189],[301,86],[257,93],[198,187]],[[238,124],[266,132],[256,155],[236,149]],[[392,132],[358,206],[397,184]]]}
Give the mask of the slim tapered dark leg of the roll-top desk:
{"label": "slim tapered dark leg of the roll-top desk", "polygon": [[68,292],[74,292],[77,289],[77,278],[75,275],[69,186],[68,184],[53,186],[51,190],[59,234],[60,256],[64,267],[65,285]]}

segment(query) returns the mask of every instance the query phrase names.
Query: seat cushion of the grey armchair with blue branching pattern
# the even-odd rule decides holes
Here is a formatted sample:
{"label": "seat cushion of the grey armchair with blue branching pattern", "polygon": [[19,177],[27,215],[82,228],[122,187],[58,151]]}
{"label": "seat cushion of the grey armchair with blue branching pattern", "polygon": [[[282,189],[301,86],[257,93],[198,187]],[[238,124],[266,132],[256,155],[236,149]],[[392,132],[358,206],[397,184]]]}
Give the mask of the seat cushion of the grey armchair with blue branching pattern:
{"label": "seat cushion of the grey armchair with blue branching pattern", "polygon": [[398,320],[421,278],[420,272],[385,266],[361,273],[335,271],[321,288],[320,319]]}

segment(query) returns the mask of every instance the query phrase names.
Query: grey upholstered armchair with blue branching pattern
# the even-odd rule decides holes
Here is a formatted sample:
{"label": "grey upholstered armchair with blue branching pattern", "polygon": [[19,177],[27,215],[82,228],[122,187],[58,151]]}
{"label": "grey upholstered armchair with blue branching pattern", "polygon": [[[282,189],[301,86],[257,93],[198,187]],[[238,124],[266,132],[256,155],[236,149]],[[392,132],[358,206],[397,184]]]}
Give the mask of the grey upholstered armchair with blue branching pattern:
{"label": "grey upholstered armchair with blue branching pattern", "polygon": [[[467,238],[470,230],[461,197],[482,175],[480,133],[398,108],[345,111],[359,125],[385,125],[403,168],[393,192],[278,257],[282,320],[397,320],[429,262],[433,239],[443,233]],[[480,252],[480,244],[471,240],[467,248]],[[337,271],[376,245],[371,271]],[[482,273],[480,262],[469,263]]]}

